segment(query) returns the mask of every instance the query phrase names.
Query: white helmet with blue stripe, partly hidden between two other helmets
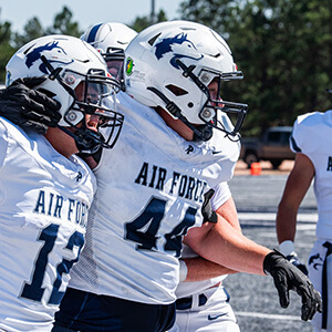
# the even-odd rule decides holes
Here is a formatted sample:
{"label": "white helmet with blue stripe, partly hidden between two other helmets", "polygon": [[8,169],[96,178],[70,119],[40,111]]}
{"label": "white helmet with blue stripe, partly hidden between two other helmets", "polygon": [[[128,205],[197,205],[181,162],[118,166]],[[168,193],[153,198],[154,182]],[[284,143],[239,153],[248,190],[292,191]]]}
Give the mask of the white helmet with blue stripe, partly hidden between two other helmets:
{"label": "white helmet with blue stripe, partly hidden between two other helmets", "polygon": [[110,74],[123,83],[124,50],[136,34],[136,31],[123,23],[108,22],[91,27],[81,39],[103,55]]}

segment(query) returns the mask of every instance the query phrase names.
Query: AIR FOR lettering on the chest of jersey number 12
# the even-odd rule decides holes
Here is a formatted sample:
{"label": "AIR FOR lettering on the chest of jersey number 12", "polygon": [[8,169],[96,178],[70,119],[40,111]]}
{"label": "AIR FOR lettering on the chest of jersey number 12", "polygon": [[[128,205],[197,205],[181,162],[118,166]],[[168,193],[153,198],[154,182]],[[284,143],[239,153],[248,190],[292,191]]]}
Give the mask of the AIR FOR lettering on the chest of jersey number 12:
{"label": "AIR FOR lettering on the chest of jersey number 12", "polygon": [[63,219],[86,228],[89,206],[59,194],[39,190],[34,212]]}

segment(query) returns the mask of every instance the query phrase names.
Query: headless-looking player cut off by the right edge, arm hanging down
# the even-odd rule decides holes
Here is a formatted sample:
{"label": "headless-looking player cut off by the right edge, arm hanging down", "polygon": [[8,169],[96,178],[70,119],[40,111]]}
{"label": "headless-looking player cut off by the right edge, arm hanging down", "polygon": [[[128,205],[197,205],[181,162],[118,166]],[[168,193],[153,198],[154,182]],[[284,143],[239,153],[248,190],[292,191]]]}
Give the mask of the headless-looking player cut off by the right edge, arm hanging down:
{"label": "headless-looking player cut off by the right edge, arm hanging down", "polygon": [[[290,147],[295,153],[293,168],[288,177],[277,214],[277,235],[280,250],[291,261],[304,269],[294,250],[297,215],[300,204],[312,180],[318,204],[319,220],[315,242],[308,260],[309,277],[322,294],[322,313],[313,317],[313,331],[332,331],[332,282],[331,282],[331,200],[332,156],[330,135],[332,111],[300,115],[293,125]],[[323,144],[322,144],[323,143]]]}

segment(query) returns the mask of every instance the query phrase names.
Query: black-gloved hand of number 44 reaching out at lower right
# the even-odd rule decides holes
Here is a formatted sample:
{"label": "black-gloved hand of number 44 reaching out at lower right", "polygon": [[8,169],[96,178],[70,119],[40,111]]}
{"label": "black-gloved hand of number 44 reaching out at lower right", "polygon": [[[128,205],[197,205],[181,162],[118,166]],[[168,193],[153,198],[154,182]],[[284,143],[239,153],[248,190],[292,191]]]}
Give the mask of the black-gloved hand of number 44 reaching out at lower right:
{"label": "black-gloved hand of number 44 reaching out at lower right", "polygon": [[309,278],[280,252],[268,253],[263,261],[263,269],[274,280],[282,308],[289,305],[289,291],[293,290],[302,299],[301,319],[303,321],[311,320],[317,311],[322,312],[320,293],[313,288]]}

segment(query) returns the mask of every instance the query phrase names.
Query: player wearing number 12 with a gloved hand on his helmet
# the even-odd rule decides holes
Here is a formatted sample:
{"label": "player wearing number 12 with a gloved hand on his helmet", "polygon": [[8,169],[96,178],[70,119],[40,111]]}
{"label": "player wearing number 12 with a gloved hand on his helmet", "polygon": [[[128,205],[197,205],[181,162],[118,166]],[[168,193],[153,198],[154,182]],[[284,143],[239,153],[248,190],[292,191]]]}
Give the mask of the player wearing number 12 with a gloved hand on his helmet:
{"label": "player wearing number 12 with a gloved hand on his helmet", "polygon": [[18,50],[7,85],[0,94],[7,117],[0,117],[0,330],[46,332],[83,247],[96,187],[75,153],[106,147],[100,124],[122,125],[103,105],[118,86],[91,45],[66,35]]}

